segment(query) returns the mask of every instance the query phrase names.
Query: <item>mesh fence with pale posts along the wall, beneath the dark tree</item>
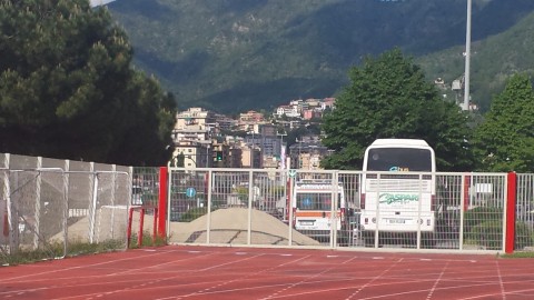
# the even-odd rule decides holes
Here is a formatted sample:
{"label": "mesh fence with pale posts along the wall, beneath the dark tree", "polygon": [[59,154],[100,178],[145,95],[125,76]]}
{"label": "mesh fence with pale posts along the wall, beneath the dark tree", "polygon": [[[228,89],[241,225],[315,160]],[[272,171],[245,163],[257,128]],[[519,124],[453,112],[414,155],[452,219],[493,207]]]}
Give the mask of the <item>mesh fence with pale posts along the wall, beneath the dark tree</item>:
{"label": "mesh fence with pale posts along the wall, beneath the dark tree", "polygon": [[126,249],[131,168],[1,154],[0,249],[43,258]]}

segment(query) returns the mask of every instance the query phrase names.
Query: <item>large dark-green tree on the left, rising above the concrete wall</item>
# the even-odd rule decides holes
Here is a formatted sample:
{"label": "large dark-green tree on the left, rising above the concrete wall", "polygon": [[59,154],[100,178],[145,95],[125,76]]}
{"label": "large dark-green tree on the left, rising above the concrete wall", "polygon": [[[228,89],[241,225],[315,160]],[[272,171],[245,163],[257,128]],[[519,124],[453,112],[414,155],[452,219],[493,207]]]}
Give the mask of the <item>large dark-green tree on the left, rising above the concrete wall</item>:
{"label": "large dark-green tree on the left, rising above the concrete wall", "polygon": [[172,94],[130,68],[107,9],[87,0],[0,1],[0,151],[161,164]]}

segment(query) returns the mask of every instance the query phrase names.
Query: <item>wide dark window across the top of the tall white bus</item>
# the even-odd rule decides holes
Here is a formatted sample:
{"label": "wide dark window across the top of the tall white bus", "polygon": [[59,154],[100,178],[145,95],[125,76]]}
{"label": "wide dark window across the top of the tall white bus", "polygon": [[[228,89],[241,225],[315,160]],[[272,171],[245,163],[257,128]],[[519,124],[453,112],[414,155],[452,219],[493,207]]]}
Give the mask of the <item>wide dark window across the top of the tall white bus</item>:
{"label": "wide dark window across the top of the tall white bus", "polygon": [[369,149],[367,171],[432,172],[432,152],[414,148]]}

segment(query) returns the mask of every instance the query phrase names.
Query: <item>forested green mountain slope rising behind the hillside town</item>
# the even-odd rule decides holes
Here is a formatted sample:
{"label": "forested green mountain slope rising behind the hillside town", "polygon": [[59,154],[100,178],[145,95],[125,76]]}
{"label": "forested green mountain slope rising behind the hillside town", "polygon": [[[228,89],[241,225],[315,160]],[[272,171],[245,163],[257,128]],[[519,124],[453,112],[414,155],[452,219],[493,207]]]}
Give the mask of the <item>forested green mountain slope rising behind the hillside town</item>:
{"label": "forested green mountain slope rising behind the hillside town", "polygon": [[[330,97],[363,57],[394,47],[428,78],[463,73],[466,0],[118,0],[109,9],[136,64],[181,108],[231,113]],[[532,0],[473,0],[475,101],[487,102],[483,83],[532,69],[520,59],[532,56],[533,11]]]}

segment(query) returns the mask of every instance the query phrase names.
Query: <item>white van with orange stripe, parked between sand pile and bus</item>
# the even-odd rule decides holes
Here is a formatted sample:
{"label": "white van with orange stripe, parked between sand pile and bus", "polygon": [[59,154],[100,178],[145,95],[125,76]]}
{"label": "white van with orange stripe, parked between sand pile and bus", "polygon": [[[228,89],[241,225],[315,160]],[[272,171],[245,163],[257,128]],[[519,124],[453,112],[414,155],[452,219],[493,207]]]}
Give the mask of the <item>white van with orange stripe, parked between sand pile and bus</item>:
{"label": "white van with orange stripe, parked between sand pile and bus", "polygon": [[[336,202],[337,208],[333,208],[332,206]],[[293,223],[299,232],[319,242],[327,242],[330,240],[332,230],[336,228],[338,238],[340,238],[342,227],[346,224],[346,208],[347,203],[342,183],[336,187],[329,180],[295,182]]]}

